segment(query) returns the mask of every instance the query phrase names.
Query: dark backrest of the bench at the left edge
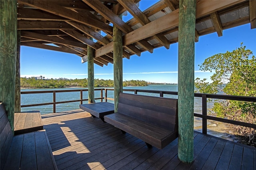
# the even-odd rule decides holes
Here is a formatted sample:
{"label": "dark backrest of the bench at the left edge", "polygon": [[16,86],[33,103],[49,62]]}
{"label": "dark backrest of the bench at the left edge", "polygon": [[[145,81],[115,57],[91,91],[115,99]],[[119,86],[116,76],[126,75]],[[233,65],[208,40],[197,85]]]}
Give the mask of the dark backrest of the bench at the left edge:
{"label": "dark backrest of the bench at the left edge", "polygon": [[4,162],[6,160],[9,148],[12,143],[13,133],[10,123],[6,114],[6,110],[3,103],[0,103],[0,167],[4,168]]}

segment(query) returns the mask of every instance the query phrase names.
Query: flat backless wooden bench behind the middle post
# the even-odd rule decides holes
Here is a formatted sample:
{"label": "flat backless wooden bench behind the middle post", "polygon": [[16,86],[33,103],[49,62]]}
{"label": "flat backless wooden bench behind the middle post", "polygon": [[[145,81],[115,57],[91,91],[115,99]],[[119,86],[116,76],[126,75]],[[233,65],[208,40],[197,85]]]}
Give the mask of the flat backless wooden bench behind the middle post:
{"label": "flat backless wooden bench behind the middle post", "polygon": [[79,105],[80,109],[90,113],[92,117],[98,117],[103,122],[104,116],[114,113],[114,104],[108,102],[98,102],[98,103],[90,103],[90,104],[82,104]]}

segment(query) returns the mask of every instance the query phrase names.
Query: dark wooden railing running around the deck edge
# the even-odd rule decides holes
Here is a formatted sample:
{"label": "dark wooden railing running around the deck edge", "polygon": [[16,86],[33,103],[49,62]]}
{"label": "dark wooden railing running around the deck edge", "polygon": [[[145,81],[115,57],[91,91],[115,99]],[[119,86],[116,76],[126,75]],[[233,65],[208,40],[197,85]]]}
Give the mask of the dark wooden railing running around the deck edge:
{"label": "dark wooden railing running around the deck edge", "polygon": [[[114,101],[113,98],[108,97],[108,91],[114,91],[114,89],[102,88],[102,89],[94,89],[95,91],[100,91],[100,97],[95,98],[95,100],[100,100],[101,102],[104,100],[107,102],[108,100]],[[78,92],[80,91],[80,99],[71,100],[71,101],[57,101],[56,102],[56,93],[63,92]],[[21,107],[32,107],[32,106],[42,106],[42,105],[53,105],[53,112],[56,113],[56,105],[60,103],[71,103],[71,102],[80,102],[88,101],[88,99],[83,99],[83,91],[88,91],[88,89],[74,89],[74,90],[50,90],[50,91],[22,91],[21,94],[38,94],[38,93],[52,93],[53,102],[49,103],[37,103],[30,105],[21,105]],[[105,93],[103,97],[103,91]],[[154,93],[159,94],[159,97],[164,97],[164,95],[178,95],[176,91],[158,91],[158,90],[143,90],[143,89],[123,89],[124,92],[133,92],[134,94],[138,93]],[[240,125],[249,128],[255,128],[256,124],[246,123],[241,121],[234,121],[230,119],[224,119],[219,117],[214,117],[207,115],[207,100],[208,99],[226,99],[226,100],[236,100],[236,101],[248,101],[248,102],[256,102],[256,97],[247,97],[247,96],[233,96],[233,95],[220,95],[220,94],[204,94],[204,93],[194,93],[195,97],[202,98],[202,114],[194,113],[194,117],[202,118],[202,133],[207,134],[207,120],[219,121],[222,123],[230,123],[233,125]],[[178,98],[178,96],[177,96]]]}

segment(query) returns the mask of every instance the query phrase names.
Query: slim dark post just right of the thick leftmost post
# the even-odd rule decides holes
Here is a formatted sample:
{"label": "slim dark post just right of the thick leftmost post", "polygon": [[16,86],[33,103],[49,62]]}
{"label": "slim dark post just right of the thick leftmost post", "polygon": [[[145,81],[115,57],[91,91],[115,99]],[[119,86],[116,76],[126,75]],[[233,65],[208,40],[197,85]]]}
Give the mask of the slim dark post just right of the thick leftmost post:
{"label": "slim dark post just right of the thick leftmost post", "polygon": [[17,31],[17,56],[16,56],[16,81],[15,81],[15,105],[14,112],[21,112],[20,109],[20,40],[21,31]]}

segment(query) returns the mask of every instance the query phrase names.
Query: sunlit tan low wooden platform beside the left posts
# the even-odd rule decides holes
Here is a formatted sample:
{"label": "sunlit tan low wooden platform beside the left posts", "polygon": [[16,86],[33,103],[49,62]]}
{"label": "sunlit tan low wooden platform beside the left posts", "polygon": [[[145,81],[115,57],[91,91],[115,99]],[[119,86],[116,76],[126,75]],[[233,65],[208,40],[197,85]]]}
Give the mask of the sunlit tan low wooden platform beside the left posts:
{"label": "sunlit tan low wooden platform beside the left posts", "polygon": [[42,130],[40,111],[14,113],[14,135]]}

